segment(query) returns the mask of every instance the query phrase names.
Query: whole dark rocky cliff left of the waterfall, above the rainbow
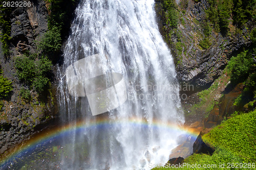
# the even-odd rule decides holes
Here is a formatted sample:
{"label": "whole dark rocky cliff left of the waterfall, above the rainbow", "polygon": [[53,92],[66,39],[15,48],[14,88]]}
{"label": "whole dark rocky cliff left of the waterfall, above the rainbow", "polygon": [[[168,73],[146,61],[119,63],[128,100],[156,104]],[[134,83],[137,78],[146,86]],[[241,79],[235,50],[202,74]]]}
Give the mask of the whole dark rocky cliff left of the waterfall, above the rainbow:
{"label": "whole dark rocky cliff left of the waterfall, above the rainbow", "polygon": [[[66,6],[67,9],[62,8],[62,6]],[[2,14],[5,10],[3,8],[1,9]],[[48,27],[57,25],[59,29],[61,28],[62,40],[60,43],[63,43],[69,34],[71,20],[74,17],[74,9],[74,1],[68,1],[65,4],[61,1],[49,3],[49,1],[44,0],[33,0],[30,7],[11,8],[8,16],[4,14],[4,17],[9,21],[11,30],[8,42],[9,49],[7,49],[9,53],[7,53],[8,55],[4,54],[3,48],[1,48],[0,65],[3,77],[12,82],[13,89],[7,98],[3,98],[0,101],[3,106],[0,110],[1,157],[10,153],[18,144],[30,139],[32,135],[39,133],[56,121],[58,108],[56,104],[55,65],[51,66],[47,89],[39,93],[31,85],[33,82],[27,83],[27,81],[20,80],[15,62],[21,56],[28,56],[29,58],[31,57],[30,55],[35,56],[31,60],[35,64],[40,61],[40,56],[43,55],[48,55],[48,58],[54,56],[54,58],[50,58],[53,64],[61,62],[61,52],[40,54],[38,42],[48,32]],[[53,14],[52,17],[50,17],[51,14]],[[65,21],[60,20],[59,15],[65,16]],[[49,25],[49,22],[54,23]],[[3,47],[2,44],[1,46]],[[35,80],[39,81],[38,79],[33,81]],[[22,94],[22,90],[27,94]],[[29,99],[26,99],[26,95],[28,95],[27,98]]]}

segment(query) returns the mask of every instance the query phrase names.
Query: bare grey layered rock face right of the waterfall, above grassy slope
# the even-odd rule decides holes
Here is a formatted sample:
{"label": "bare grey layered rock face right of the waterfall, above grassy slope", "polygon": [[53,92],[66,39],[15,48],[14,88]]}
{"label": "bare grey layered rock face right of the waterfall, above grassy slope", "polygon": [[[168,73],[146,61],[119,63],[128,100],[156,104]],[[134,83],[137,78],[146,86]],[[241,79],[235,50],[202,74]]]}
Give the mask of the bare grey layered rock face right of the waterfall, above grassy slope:
{"label": "bare grey layered rock face right of the waterfall, above grassy slope", "polygon": [[[181,16],[177,28],[180,37],[172,35],[168,40],[176,58],[177,78],[182,83],[194,85],[195,90],[192,93],[214,82],[225,68],[227,59],[243,46],[250,44],[250,40],[244,36],[247,29],[242,30],[242,34],[236,35],[232,32],[228,36],[223,36],[211,29],[209,35],[211,45],[206,50],[202,49],[199,42],[205,38],[205,35],[201,25],[205,21],[205,10],[208,8],[209,4],[206,0],[197,4],[188,0],[187,9],[183,12],[179,10],[178,14]],[[166,37],[168,32],[163,30],[163,23],[165,23],[164,11],[158,1],[156,1],[156,12],[158,23],[160,23],[160,32],[163,37]],[[180,39],[180,44],[178,39]],[[180,50],[177,49],[177,46]]]}

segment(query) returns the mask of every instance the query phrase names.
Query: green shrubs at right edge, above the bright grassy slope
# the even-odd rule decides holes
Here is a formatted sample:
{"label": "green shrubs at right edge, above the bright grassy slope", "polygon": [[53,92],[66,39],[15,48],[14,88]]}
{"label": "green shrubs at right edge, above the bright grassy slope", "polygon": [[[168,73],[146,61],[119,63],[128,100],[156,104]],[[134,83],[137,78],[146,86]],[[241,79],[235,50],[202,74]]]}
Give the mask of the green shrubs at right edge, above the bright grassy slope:
{"label": "green shrubs at right edge, above the bright grassy slope", "polygon": [[[231,77],[231,84],[244,83],[245,88],[242,94],[234,102],[234,106],[253,109],[252,101],[256,99],[256,29],[250,33],[251,45],[247,50],[243,50],[236,56],[233,56],[228,62],[227,68]],[[251,107],[250,107],[251,106]]]}

